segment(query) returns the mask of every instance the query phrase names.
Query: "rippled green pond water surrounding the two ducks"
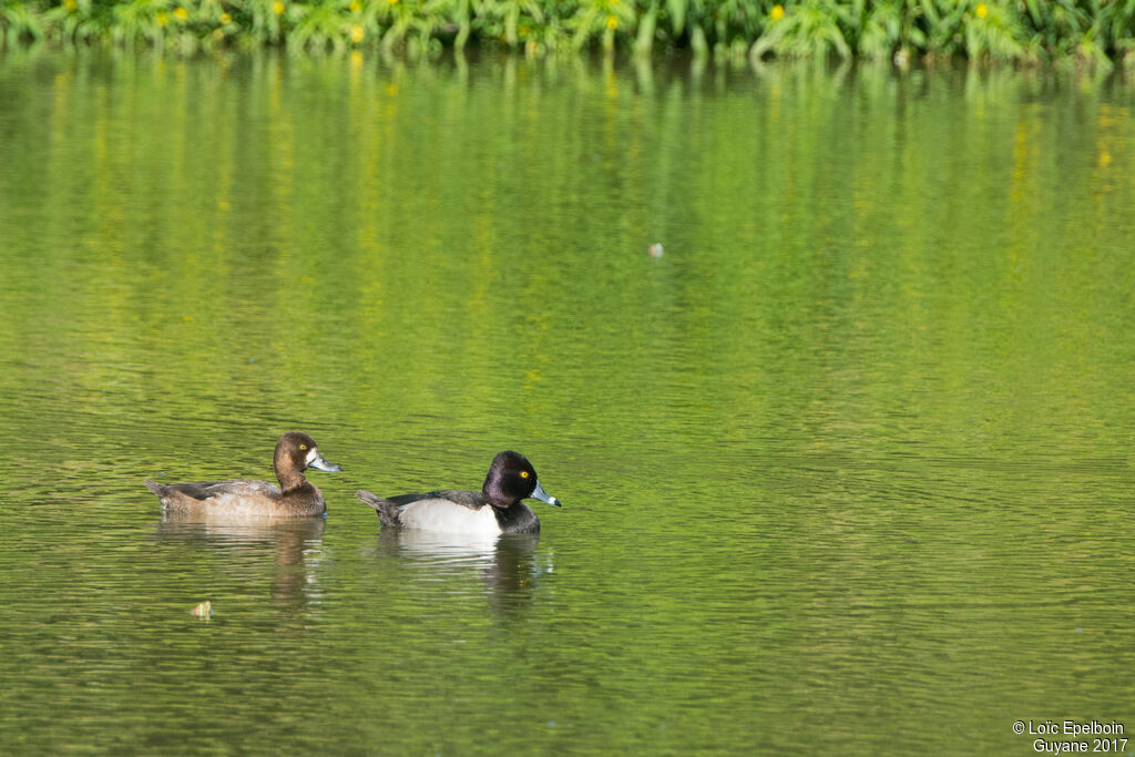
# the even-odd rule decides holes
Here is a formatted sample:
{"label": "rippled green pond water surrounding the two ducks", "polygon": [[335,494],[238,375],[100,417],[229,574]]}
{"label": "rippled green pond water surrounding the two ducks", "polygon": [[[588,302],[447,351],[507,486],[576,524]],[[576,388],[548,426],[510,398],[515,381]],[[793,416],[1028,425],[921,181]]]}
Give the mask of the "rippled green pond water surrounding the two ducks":
{"label": "rippled green pond water surrounding the two ducks", "polygon": [[[1133,107],[1011,70],[0,58],[0,751],[1135,737]],[[162,522],[143,479],[270,478],[291,429],[345,469],[326,523]],[[538,539],[353,497],[504,448],[564,502]]]}

